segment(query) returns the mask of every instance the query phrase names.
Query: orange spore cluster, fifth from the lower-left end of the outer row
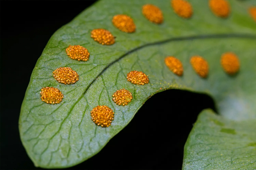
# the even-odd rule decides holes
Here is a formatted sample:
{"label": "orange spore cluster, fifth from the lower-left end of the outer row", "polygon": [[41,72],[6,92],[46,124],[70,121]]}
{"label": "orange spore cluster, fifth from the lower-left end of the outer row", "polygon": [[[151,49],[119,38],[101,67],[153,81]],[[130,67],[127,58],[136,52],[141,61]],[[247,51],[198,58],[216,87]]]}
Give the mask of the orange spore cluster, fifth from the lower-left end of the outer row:
{"label": "orange spore cluster, fifth from the lower-left end of the outer row", "polygon": [[112,23],[116,28],[126,33],[133,33],[136,29],[133,19],[128,15],[115,15],[112,19]]}

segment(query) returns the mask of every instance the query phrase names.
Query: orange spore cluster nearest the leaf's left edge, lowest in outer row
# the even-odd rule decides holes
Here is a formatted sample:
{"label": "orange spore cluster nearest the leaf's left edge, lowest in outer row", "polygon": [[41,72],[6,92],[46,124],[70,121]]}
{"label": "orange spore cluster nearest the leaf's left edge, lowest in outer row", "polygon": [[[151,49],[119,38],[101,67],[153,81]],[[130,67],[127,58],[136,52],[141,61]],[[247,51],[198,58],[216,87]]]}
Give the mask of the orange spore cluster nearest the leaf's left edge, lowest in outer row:
{"label": "orange spore cluster nearest the leaf's left edge, lowest in outer row", "polygon": [[62,101],[63,94],[58,88],[43,87],[40,91],[42,101],[50,104],[56,104]]}

